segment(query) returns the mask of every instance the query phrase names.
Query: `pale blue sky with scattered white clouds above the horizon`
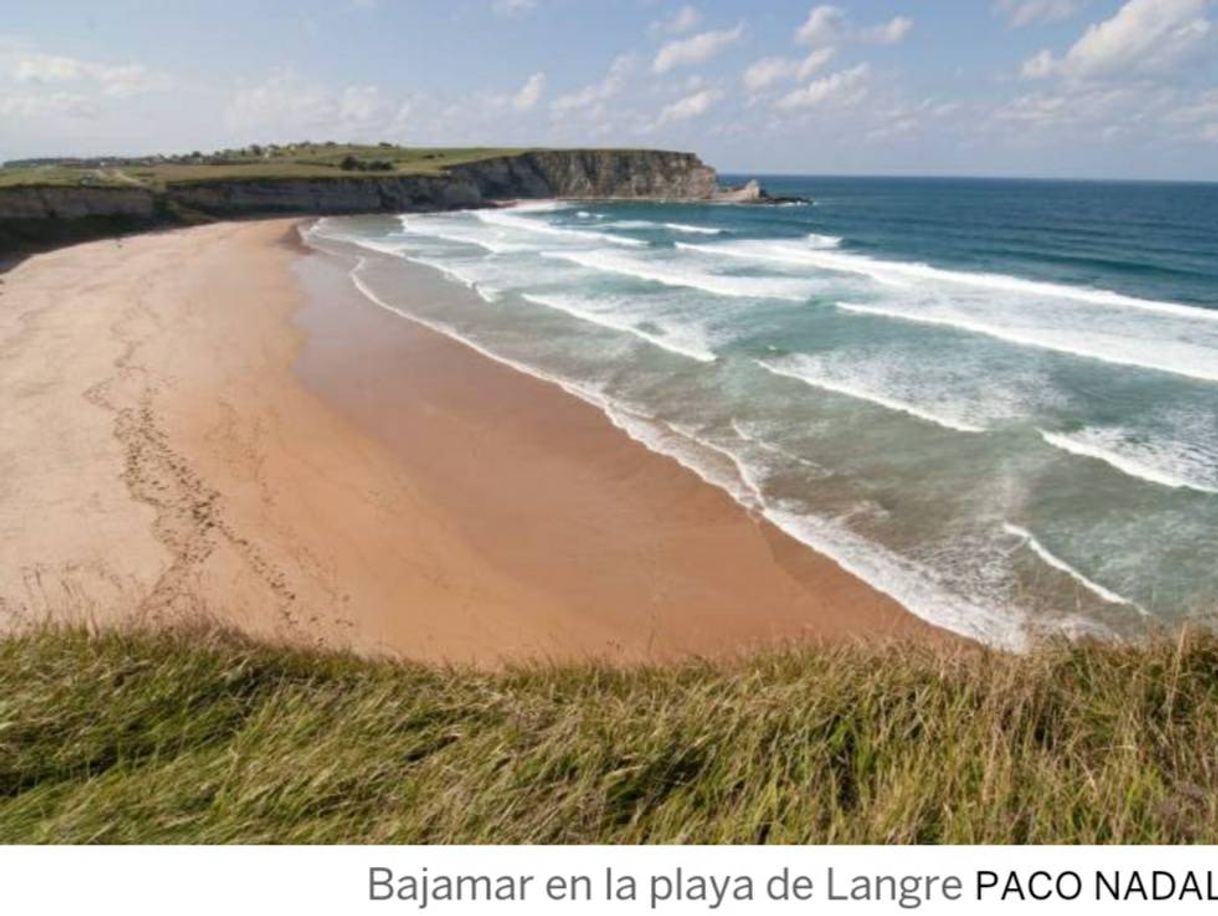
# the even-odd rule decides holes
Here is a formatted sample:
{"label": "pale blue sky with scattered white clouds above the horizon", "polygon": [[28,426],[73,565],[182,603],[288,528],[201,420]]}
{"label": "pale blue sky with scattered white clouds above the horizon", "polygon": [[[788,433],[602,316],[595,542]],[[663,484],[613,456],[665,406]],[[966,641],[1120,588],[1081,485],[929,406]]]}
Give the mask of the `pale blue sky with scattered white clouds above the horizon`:
{"label": "pale blue sky with scattered white clouds above the horizon", "polygon": [[294,140],[1218,180],[1218,0],[0,0],[0,158]]}

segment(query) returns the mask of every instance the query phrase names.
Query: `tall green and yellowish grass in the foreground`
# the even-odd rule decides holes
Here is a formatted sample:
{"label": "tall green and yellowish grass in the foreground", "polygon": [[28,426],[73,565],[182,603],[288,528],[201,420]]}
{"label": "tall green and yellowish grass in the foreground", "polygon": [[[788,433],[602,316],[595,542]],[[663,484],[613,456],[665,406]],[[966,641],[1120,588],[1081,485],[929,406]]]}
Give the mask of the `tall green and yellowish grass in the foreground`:
{"label": "tall green and yellowish grass in the foreground", "polygon": [[1218,840],[1218,641],[485,674],[0,641],[5,842]]}

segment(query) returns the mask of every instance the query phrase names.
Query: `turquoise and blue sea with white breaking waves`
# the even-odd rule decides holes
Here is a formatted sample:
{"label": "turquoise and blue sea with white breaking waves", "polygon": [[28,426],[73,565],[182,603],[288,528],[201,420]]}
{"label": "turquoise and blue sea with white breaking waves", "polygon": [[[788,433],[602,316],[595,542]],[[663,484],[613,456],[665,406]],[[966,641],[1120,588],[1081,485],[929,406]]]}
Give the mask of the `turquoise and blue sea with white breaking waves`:
{"label": "turquoise and blue sea with white breaking waves", "polygon": [[[765,184],[815,203],[308,235],[935,624],[1019,647],[1218,609],[1218,185]],[[412,262],[479,295],[412,302]]]}

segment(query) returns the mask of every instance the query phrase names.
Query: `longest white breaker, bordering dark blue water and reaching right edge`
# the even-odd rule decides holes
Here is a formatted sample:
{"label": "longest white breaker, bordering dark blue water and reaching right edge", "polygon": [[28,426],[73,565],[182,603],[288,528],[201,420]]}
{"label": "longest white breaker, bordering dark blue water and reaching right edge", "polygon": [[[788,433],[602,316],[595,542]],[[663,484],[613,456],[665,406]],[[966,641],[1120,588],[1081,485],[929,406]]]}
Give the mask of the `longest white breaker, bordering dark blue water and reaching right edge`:
{"label": "longest white breaker, bordering dark blue water and reaching right edge", "polygon": [[[828,236],[832,238],[832,236]],[[688,246],[695,247],[695,246]],[[1071,300],[1091,306],[1112,306],[1133,308],[1142,312],[1169,314],[1177,318],[1189,318],[1203,322],[1218,322],[1218,309],[1185,306],[1178,302],[1160,302],[1155,300],[1125,296],[1111,290],[1090,289],[1085,286],[1067,286],[1044,280],[1028,280],[1006,274],[972,273],[968,270],[948,270],[924,263],[906,261],[881,261],[865,255],[798,247],[773,242],[722,242],[717,245],[697,246],[708,253],[727,255],[762,261],[805,264],[823,270],[862,274],[885,285],[933,281],[955,286],[970,286],[998,292],[1016,292],[1041,298]]]}

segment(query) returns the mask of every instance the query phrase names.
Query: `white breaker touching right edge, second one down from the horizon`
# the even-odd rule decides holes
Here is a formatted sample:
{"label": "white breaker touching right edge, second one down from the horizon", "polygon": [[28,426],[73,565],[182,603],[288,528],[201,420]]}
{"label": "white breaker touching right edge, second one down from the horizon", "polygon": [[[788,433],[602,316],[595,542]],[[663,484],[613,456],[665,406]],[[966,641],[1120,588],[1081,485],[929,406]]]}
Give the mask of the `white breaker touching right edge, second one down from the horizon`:
{"label": "white breaker touching right edge, second one down from the horizon", "polygon": [[[855,302],[838,302],[837,307],[854,314],[954,328],[968,331],[970,334],[983,334],[988,337],[1022,347],[1051,350],[1057,353],[1097,359],[1113,365],[1133,365],[1139,369],[1170,373],[1172,375],[1183,375],[1201,381],[1218,381],[1218,354],[1203,347],[1190,347],[1188,345],[1173,346],[1169,341],[1160,341],[1160,352],[1156,354],[1150,350],[1151,341],[1132,337],[1097,340],[1095,335],[1088,336],[1079,329],[1063,328],[1055,333],[1051,328],[1010,328],[960,313],[927,314],[907,308],[867,306]],[[1189,358],[1190,356],[1192,357],[1191,359]]]}

